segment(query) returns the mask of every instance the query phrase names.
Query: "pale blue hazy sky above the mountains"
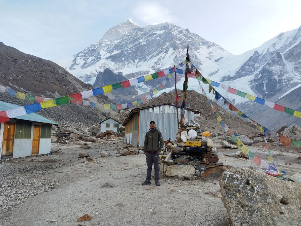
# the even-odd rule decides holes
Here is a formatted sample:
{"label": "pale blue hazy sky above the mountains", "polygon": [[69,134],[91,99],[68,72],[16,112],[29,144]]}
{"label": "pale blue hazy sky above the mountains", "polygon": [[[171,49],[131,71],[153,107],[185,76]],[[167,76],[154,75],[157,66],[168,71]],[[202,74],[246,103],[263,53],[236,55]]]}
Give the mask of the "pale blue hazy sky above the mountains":
{"label": "pale blue hazy sky above the mountains", "polygon": [[40,58],[72,58],[128,18],[169,22],[240,55],[301,26],[300,0],[0,0],[0,42]]}

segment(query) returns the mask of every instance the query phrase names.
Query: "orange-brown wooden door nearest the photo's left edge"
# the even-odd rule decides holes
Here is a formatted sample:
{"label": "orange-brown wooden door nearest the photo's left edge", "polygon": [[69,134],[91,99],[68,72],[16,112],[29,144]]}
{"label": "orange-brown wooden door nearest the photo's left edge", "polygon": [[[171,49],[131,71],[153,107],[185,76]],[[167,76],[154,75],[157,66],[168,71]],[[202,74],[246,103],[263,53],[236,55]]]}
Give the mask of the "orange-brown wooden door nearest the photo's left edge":
{"label": "orange-brown wooden door nearest the photo's left edge", "polygon": [[5,122],[3,131],[2,157],[12,157],[14,149],[15,124]]}

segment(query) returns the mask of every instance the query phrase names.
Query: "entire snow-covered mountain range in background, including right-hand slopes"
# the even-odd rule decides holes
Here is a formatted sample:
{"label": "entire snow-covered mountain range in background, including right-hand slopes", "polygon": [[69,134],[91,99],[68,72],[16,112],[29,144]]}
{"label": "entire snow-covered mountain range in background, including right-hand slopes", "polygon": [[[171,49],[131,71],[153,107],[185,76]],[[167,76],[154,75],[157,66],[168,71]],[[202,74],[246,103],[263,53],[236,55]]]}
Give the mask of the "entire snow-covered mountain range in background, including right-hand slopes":
{"label": "entire snow-covered mountain range in background, including right-hand slopes", "polygon": [[[301,27],[281,33],[256,49],[232,55],[216,43],[174,24],[163,23],[142,28],[132,20],[127,20],[110,28],[102,39],[69,61],[58,64],[85,83],[93,84],[97,74],[106,68],[131,78],[177,65],[185,60],[188,45],[191,60],[204,77],[288,108],[301,110],[301,92],[298,92],[301,90]],[[156,82],[154,80],[152,83]],[[178,87],[181,87],[181,83],[180,76]],[[167,89],[159,91],[157,95],[173,89],[171,86],[167,85]],[[151,81],[135,88],[140,94],[147,92],[147,87],[150,90],[154,88],[151,87]],[[190,79],[188,87],[201,93],[196,80]],[[217,90],[233,104],[249,112],[254,119],[260,112],[274,114],[275,118],[288,117],[287,121],[283,120],[286,124],[297,121],[301,125],[301,120],[298,122],[296,117],[280,112],[271,113],[275,111],[266,106],[251,103],[222,88]],[[259,123],[266,123],[266,127],[278,126],[276,121],[271,120]]]}

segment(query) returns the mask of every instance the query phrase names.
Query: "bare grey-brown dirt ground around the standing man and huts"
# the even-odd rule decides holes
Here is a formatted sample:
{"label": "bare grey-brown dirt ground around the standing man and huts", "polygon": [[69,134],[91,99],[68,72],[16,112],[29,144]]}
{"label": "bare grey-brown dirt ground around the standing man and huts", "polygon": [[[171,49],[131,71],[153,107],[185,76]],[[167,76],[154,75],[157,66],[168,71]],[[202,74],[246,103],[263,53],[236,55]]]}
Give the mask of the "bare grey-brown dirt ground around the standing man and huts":
{"label": "bare grey-brown dirt ground around the standing man and huts", "polygon": [[[2,162],[0,170],[8,166],[41,163],[61,166],[32,175],[26,174],[26,177],[53,179],[59,185],[0,213],[0,225],[230,224],[221,201],[218,178],[199,177],[197,180],[183,181],[160,175],[160,187],[154,186],[154,178],[151,185],[142,186],[147,168],[145,155],[116,157],[116,142],[121,141],[92,143],[92,149],[53,143],[52,150],[60,149],[55,155],[17,159],[18,163],[14,160]],[[237,149],[222,148],[220,140],[213,139],[213,142],[224,165],[257,167],[251,160],[230,157]],[[288,175],[300,173],[300,148],[279,146],[279,143],[269,143],[269,146],[278,169],[286,170]],[[264,143],[248,147],[260,158],[267,160]],[[109,151],[112,156],[100,157],[102,150]],[[79,152],[88,152],[96,162],[84,162],[85,159],[78,158]],[[92,220],[76,221],[85,214],[90,215]]]}

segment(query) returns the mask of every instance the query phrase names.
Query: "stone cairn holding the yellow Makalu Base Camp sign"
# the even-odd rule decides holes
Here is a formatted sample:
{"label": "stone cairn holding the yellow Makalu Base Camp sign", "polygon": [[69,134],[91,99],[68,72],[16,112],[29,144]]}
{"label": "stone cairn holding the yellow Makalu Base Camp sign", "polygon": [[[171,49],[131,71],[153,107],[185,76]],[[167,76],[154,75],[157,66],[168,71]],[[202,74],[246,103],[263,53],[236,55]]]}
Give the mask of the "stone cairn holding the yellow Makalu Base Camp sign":
{"label": "stone cairn holding the yellow Makalu Base Camp sign", "polygon": [[[186,126],[178,129],[175,142],[166,144],[159,160],[160,171],[168,177],[195,180],[206,168],[223,163],[213,141],[202,136],[200,125],[189,120]],[[186,141],[200,142],[201,146],[187,146]]]}

